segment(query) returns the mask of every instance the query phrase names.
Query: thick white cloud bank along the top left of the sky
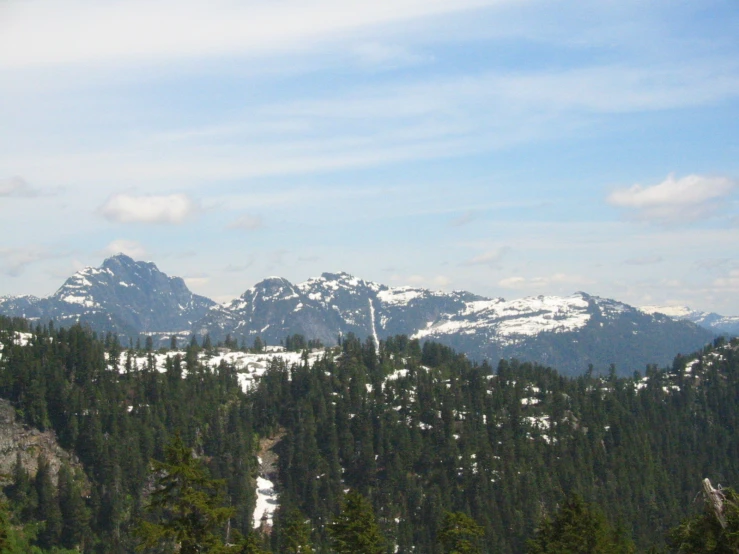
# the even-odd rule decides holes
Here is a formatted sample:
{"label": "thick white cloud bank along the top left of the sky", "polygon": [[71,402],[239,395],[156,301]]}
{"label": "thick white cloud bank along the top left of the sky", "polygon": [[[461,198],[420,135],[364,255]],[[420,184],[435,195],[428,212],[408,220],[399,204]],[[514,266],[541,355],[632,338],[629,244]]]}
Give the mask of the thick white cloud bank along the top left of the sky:
{"label": "thick white cloud bank along the top left of the sky", "polygon": [[[0,67],[262,54],[501,0],[3,2]],[[19,47],[18,45],[22,45]],[[49,45],[54,45],[53,48]]]}

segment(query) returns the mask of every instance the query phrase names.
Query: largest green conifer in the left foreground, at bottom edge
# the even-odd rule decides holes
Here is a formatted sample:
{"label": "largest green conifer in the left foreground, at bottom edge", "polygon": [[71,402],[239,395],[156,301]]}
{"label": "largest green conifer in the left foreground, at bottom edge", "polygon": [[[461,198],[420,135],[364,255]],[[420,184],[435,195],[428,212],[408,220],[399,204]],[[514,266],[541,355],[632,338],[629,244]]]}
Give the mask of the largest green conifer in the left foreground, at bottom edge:
{"label": "largest green conifer in the left foreground, at bottom edge", "polygon": [[179,435],[166,448],[164,462],[152,461],[155,477],[146,511],[137,529],[138,550],[158,552],[174,548],[181,554],[221,552],[220,531],[234,515],[222,506],[223,482],[210,478],[203,463],[195,458]]}

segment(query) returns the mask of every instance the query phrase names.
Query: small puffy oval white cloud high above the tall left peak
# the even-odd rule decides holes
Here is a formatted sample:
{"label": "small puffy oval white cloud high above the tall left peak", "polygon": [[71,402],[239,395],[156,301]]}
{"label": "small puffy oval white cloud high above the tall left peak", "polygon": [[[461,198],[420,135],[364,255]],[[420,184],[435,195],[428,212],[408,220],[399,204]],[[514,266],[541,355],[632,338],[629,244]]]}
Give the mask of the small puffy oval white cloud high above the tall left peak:
{"label": "small puffy oval white cloud high above the tall left peak", "polygon": [[168,196],[131,196],[116,194],[98,210],[109,221],[117,223],[178,224],[193,217],[197,205],[185,194]]}

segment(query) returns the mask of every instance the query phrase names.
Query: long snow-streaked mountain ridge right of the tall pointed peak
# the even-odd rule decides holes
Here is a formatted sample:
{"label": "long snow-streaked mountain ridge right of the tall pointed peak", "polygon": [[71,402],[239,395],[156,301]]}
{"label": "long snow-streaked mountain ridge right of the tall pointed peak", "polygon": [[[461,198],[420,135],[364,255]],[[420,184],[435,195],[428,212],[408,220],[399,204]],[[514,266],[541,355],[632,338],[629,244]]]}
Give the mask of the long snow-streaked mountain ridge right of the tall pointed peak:
{"label": "long snow-streaked mountain ridge right of the tall pointed peak", "polygon": [[347,273],[324,273],[293,285],[271,277],[240,298],[211,310],[195,325],[201,335],[276,344],[299,333],[334,344],[339,335],[397,334],[433,340],[476,360],[538,361],[565,373],[611,363],[622,374],[666,365],[702,347],[714,333],[662,314],[645,314],[615,300],[578,292],[506,301],[469,292],[387,287]]}

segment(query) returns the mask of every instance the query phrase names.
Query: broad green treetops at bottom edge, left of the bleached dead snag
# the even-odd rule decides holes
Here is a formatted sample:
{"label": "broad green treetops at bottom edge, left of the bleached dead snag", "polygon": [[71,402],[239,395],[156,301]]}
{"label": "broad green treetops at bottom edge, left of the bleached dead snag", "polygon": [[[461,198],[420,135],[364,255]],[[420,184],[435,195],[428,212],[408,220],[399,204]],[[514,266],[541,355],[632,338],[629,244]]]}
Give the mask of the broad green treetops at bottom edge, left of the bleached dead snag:
{"label": "broad green treetops at bottom edge, left of the bleached dead snag", "polygon": [[603,513],[580,496],[565,500],[552,517],[545,517],[534,538],[529,554],[629,554],[631,542],[613,529]]}

